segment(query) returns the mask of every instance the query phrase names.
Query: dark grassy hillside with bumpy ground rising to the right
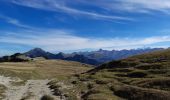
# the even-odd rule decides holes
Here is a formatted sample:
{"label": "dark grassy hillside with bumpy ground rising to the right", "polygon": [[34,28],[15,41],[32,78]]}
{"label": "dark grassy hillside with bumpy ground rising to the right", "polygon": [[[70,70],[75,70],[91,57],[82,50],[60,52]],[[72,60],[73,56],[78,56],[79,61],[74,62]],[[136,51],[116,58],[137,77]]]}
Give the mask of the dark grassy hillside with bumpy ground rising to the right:
{"label": "dark grassy hillside with bumpy ground rising to the right", "polygon": [[170,49],[105,63],[72,82],[82,100],[169,100]]}

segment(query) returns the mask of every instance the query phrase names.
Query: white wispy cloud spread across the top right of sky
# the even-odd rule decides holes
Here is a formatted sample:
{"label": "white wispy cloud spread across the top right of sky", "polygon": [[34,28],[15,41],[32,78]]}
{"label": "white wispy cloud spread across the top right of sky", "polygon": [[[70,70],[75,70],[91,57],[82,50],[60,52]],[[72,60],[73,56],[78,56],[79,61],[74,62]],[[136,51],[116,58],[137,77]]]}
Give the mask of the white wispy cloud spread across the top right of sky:
{"label": "white wispy cloud spread across the top right of sky", "polygon": [[109,11],[132,13],[152,13],[154,11],[170,14],[170,0],[84,0],[82,3],[96,5]]}

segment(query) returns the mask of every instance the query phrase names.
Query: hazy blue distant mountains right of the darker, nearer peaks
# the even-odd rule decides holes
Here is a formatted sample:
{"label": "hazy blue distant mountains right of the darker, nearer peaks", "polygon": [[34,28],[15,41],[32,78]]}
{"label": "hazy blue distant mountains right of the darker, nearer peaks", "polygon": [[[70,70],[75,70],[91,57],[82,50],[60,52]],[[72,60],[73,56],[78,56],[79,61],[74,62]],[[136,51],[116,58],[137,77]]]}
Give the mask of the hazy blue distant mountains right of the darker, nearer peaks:
{"label": "hazy blue distant mountains right of the darker, nearer peaks", "polygon": [[131,50],[98,50],[92,52],[79,52],[78,54],[84,55],[88,58],[95,59],[98,62],[109,62],[111,60],[120,60],[134,55],[140,55],[153,51],[163,50],[163,48],[143,48]]}

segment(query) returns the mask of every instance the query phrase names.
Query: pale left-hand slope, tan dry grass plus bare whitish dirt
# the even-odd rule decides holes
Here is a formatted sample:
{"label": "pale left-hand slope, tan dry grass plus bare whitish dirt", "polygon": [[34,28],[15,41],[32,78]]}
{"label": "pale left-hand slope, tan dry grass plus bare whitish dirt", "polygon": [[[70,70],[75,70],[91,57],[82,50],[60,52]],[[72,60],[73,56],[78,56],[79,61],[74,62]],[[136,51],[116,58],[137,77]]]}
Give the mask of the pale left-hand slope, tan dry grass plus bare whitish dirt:
{"label": "pale left-hand slope, tan dry grass plus bare whitish dirt", "polygon": [[66,96],[50,88],[49,82],[58,80],[62,88],[70,88],[63,80],[91,68],[78,62],[39,58],[0,63],[0,100],[66,100]]}

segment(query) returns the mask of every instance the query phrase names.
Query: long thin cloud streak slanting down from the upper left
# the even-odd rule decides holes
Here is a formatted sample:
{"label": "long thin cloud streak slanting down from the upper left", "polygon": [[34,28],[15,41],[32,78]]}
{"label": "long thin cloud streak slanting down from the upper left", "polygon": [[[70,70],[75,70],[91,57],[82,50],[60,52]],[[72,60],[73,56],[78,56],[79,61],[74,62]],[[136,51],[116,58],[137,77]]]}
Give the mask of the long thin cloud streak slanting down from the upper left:
{"label": "long thin cloud streak slanting down from the upper left", "polygon": [[[101,20],[128,20],[132,21],[134,19],[129,17],[122,17],[122,16],[115,16],[111,14],[101,14],[97,12],[90,12],[85,10],[80,10],[78,8],[73,8],[68,6],[66,0],[60,1],[60,0],[11,0],[10,2],[26,6],[26,7],[32,7],[37,9],[43,9],[43,10],[50,10],[50,11],[56,11],[56,12],[64,12],[67,14],[70,14],[71,16],[85,16],[88,18],[93,19],[101,19]],[[74,2],[74,1],[73,1]]]}

